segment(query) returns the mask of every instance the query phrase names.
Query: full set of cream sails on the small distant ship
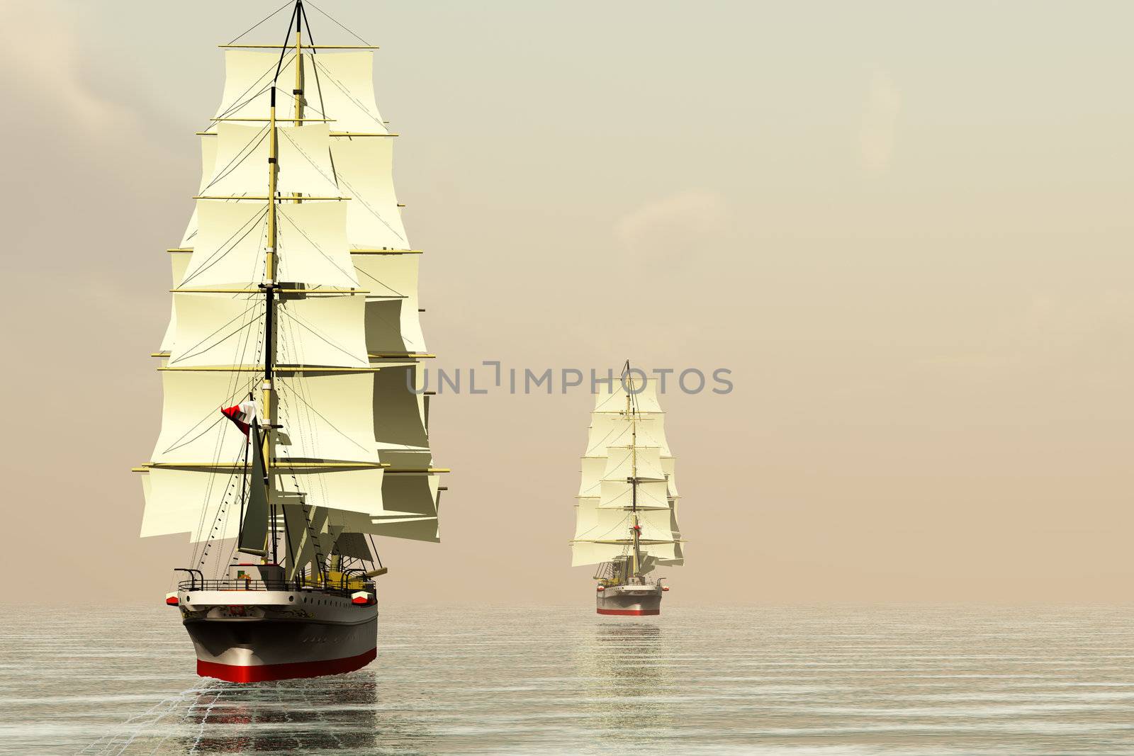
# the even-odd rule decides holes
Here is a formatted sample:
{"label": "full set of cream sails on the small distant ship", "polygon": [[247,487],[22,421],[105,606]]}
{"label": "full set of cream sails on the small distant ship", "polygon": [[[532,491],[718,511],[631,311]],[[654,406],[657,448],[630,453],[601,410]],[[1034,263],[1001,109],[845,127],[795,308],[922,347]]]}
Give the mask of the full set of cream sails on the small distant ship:
{"label": "full set of cream sails on the small distant ship", "polygon": [[638,373],[627,374],[625,385],[615,380],[599,387],[576,498],[572,564],[626,555],[633,521],[641,528],[642,572],[682,564],[674,457],[654,382],[643,384]]}

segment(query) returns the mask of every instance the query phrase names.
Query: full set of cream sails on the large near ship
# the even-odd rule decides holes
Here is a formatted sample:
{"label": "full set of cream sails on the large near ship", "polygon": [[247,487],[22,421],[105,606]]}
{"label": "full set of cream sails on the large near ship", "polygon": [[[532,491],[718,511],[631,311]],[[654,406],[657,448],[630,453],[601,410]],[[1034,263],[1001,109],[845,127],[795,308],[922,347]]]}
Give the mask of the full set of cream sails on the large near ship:
{"label": "full set of cream sails on the large near ship", "polygon": [[[295,80],[296,54],[280,80]],[[278,52],[226,52],[217,122],[202,138],[200,197],[179,248],[160,357],[162,426],[142,535],[236,537],[261,464],[218,410],[264,382],[272,300],[269,506],[294,540],[289,575],[366,535],[438,541],[440,491],[422,385],[417,261],[392,181],[392,136],[374,101],[373,53],[304,53],[302,110],[270,99]],[[279,90],[278,90],[279,92]],[[298,124],[295,121],[302,118]],[[266,199],[274,165],[276,245]],[[269,255],[272,275],[268,274]],[[257,452],[259,453],[259,452]],[[259,510],[257,510],[259,511]],[[255,540],[255,534],[253,533]],[[242,544],[244,545],[244,544]]]}

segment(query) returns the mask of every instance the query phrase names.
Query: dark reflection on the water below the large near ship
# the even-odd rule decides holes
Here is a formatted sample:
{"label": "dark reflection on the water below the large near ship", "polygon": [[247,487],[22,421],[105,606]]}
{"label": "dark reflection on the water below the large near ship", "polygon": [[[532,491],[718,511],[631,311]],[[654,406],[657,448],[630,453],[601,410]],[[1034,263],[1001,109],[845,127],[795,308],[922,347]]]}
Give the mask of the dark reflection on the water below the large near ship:
{"label": "dark reflection on the water below the large near ship", "polygon": [[378,702],[372,670],[255,686],[218,682],[189,702],[178,742],[168,742],[166,753],[365,754],[391,738],[422,738],[412,720]]}

